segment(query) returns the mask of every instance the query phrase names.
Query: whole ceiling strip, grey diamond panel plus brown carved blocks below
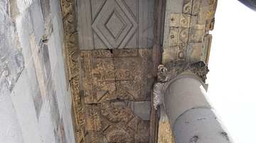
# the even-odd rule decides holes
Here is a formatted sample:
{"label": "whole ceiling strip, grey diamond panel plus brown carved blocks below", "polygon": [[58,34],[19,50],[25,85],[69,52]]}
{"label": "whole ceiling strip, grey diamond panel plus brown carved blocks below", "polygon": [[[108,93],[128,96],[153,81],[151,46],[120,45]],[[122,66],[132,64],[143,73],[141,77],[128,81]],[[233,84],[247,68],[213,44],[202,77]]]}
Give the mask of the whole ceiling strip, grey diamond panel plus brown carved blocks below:
{"label": "whole ceiling strip, grey diamond panel plus brown carved blocks below", "polygon": [[78,1],[85,142],[149,142],[154,0]]}

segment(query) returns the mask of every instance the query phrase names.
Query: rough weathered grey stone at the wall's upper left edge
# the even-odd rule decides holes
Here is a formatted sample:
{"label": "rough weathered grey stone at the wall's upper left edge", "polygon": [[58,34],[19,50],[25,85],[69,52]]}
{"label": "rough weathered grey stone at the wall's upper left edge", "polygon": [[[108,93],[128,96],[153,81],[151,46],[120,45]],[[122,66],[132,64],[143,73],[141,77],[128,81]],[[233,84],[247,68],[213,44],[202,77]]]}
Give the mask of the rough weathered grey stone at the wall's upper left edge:
{"label": "rough weathered grey stone at the wall's upper left edge", "polygon": [[6,84],[11,91],[23,70],[23,55],[12,22],[9,1],[0,1],[0,90]]}

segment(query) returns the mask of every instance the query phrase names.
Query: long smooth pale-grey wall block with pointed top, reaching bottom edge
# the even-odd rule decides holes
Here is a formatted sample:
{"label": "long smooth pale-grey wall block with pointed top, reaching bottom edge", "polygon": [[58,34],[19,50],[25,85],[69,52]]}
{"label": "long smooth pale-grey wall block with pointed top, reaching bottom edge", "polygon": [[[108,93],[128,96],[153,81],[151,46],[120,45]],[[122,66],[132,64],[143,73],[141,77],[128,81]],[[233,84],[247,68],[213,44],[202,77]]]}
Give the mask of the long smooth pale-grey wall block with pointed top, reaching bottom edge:
{"label": "long smooth pale-grey wall block with pointed top, reaching bottom edge", "polygon": [[23,71],[14,87],[14,91],[11,93],[11,101],[16,110],[24,142],[41,142],[36,110],[29,87],[27,86],[28,83],[27,73]]}

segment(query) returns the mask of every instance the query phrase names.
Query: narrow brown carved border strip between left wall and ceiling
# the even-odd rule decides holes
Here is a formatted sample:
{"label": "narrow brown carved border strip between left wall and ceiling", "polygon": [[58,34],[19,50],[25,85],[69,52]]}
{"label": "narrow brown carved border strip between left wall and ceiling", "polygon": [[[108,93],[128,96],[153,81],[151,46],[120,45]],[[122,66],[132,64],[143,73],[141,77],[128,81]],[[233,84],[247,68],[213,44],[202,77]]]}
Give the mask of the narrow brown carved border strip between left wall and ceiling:
{"label": "narrow brown carved border strip between left wall and ceiling", "polygon": [[77,31],[77,17],[75,13],[75,0],[60,0],[65,32],[65,50],[68,59],[68,79],[71,86],[73,101],[76,142],[85,142],[85,120],[82,103],[79,95],[79,44]]}

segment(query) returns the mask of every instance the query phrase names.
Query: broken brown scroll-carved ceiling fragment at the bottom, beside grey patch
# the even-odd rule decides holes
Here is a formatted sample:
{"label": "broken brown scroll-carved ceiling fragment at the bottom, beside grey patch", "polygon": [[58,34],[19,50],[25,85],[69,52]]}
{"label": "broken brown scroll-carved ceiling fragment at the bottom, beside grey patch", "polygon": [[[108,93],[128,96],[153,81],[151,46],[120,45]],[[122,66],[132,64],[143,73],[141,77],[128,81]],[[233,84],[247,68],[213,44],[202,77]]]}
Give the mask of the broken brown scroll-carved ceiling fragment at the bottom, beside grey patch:
{"label": "broken brown scroll-carved ceiling fragment at the bottom, beside grey patch", "polygon": [[90,142],[149,142],[149,121],[139,118],[124,101],[85,104]]}

